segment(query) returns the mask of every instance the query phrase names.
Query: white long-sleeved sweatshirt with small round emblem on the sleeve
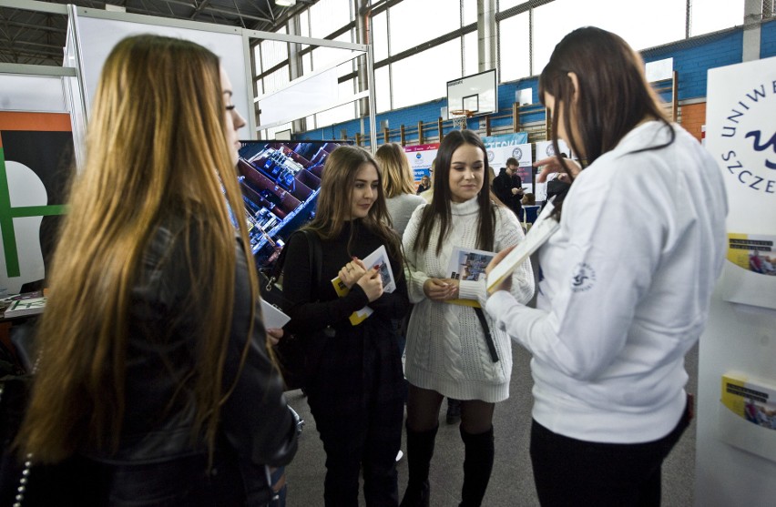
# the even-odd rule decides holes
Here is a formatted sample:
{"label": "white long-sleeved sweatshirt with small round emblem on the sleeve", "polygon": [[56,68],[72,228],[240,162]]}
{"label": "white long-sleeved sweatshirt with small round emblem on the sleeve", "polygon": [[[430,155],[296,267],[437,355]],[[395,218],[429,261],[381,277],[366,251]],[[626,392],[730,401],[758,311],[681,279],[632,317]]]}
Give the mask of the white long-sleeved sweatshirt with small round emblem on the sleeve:
{"label": "white long-sleeved sweatshirt with small round emblem on the sleeve", "polygon": [[537,309],[498,291],[497,325],[534,358],[534,419],[583,441],[669,433],[685,406],[684,356],[701,334],[725,253],[720,169],[698,141],[652,121],[582,171],[539,250]]}

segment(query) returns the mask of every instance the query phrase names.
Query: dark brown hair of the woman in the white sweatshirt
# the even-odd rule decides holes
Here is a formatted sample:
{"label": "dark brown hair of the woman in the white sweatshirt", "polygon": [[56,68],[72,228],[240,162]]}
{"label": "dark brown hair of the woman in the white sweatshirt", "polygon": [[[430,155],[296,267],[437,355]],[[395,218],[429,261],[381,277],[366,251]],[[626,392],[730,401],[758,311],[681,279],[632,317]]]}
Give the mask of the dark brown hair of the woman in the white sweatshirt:
{"label": "dark brown hair of the woman in the white sweatshirt", "polygon": [[[577,96],[570,72],[577,75]],[[644,62],[620,36],[595,26],[577,28],[563,37],[550,56],[550,61],[539,77],[539,97],[555,97],[555,108],[549,134],[557,144],[559,122],[567,132],[567,145],[582,158],[582,167],[592,164],[597,157],[614,149],[619,141],[645,118],[657,119],[669,128],[665,144],[642,148],[638,151],[660,149],[674,141],[674,131],[665,116],[659,98],[644,76]],[[563,107],[560,107],[560,105]],[[577,118],[577,134],[571,129],[571,114]],[[558,111],[562,108],[562,116]],[[560,165],[573,180],[563,157]],[[565,193],[556,198],[556,212]]]}

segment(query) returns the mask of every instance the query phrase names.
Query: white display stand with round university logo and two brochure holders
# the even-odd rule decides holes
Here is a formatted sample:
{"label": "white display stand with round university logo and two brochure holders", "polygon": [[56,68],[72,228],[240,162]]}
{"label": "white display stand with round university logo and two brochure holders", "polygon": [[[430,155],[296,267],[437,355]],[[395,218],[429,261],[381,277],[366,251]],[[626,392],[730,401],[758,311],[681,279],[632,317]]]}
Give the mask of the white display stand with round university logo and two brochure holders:
{"label": "white display stand with round university logo and two brochure holders", "polygon": [[[706,147],[730,212],[724,276],[699,347],[699,507],[776,502],[776,270],[765,264],[776,258],[774,83],[776,58],[709,72]],[[747,384],[723,386],[730,373]],[[737,410],[720,402],[723,394],[738,399]]]}

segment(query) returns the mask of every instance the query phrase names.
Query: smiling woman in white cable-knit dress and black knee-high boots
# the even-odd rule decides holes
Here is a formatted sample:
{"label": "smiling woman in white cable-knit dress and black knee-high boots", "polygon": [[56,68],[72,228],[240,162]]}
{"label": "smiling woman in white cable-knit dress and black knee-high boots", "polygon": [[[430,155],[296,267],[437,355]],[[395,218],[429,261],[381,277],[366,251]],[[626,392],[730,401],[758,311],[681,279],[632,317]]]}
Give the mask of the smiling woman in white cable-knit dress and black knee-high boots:
{"label": "smiling woman in white cable-knit dress and black knee-high boots", "polygon": [[[497,401],[509,397],[512,348],[506,334],[495,329],[481,309],[450,302],[474,302],[483,280],[450,279],[448,271],[454,247],[499,251],[524,238],[515,215],[491,198],[485,153],[473,132],[454,130],[445,135],[435,161],[434,198],[415,209],[404,231],[407,283],[415,307],[404,370],[410,390],[409,483],[403,507],[429,504],[428,470],[445,396],[463,401],[461,505],[480,505],[493,468],[493,411]],[[516,269],[513,288],[516,299],[524,303],[533,296],[529,261]]]}

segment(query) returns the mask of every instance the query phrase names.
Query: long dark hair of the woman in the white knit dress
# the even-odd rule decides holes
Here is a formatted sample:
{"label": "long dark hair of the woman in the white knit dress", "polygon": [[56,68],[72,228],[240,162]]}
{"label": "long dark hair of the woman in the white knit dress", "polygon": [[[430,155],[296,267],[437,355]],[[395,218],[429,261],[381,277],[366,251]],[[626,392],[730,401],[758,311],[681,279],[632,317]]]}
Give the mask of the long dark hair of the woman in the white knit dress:
{"label": "long dark hair of the woman in the white knit dress", "polygon": [[439,150],[436,152],[434,160],[434,197],[431,204],[426,206],[421,217],[421,225],[418,228],[417,241],[415,242],[416,251],[425,251],[429,248],[431,232],[434,225],[439,223],[439,239],[436,242],[436,253],[442,251],[442,244],[447,232],[450,229],[450,201],[452,192],[450,191],[450,166],[453,161],[453,154],[456,149],[463,145],[472,145],[482,150],[483,154],[483,188],[477,194],[477,202],[480,205],[477,233],[477,248],[492,250],[495,236],[495,203],[491,198],[490,184],[493,177],[493,171],[487,164],[487,150],[485,145],[471,130],[454,130],[444,136]]}

